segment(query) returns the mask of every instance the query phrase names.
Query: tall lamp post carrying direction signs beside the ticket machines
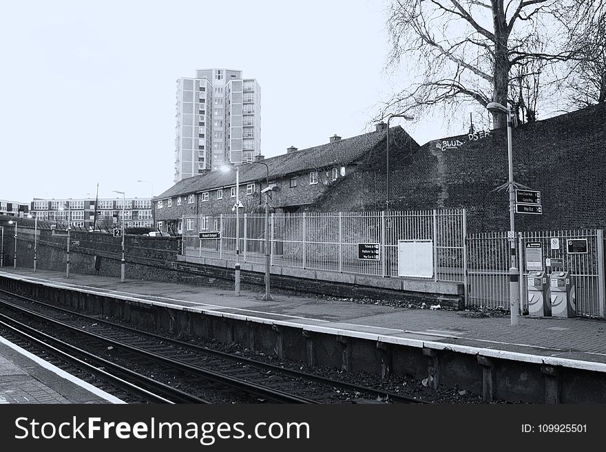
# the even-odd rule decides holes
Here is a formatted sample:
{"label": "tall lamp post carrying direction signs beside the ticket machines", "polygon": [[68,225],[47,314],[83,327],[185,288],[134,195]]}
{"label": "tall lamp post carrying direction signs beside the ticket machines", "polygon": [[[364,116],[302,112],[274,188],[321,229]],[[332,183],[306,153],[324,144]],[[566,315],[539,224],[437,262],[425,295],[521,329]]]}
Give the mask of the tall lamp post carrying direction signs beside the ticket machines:
{"label": "tall lamp post carrying direction signs beside the ticket machines", "polygon": [[486,105],[486,109],[493,114],[501,113],[507,115],[507,150],[509,160],[509,234],[508,239],[510,241],[511,248],[511,266],[509,269],[509,288],[510,288],[510,314],[511,324],[518,325],[519,311],[520,311],[520,279],[519,271],[516,264],[516,235],[515,235],[515,191],[514,191],[514,167],[513,167],[513,155],[512,155],[512,122],[514,115],[510,108],[505,107],[497,102],[491,102]]}

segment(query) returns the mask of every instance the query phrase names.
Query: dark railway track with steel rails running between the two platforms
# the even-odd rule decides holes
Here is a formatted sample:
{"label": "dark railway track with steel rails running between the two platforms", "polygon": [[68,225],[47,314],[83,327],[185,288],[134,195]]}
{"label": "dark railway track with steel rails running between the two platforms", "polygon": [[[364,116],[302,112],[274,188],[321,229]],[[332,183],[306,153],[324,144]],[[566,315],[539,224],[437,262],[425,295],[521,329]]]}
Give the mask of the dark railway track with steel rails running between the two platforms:
{"label": "dark railway track with steel rails running between the two platforms", "polygon": [[[71,347],[77,344],[78,348],[84,349],[89,355],[134,372],[136,376],[121,378],[148,391],[158,391],[163,394],[161,397],[170,402],[421,402],[380,389],[344,383],[200,347],[1,292],[3,312],[10,312],[10,319],[5,320],[7,323],[27,322],[32,336],[39,336],[40,332],[34,334],[38,330],[45,330],[48,332],[46,336],[50,336],[45,341],[59,341],[57,336],[60,336],[60,341]],[[85,356],[86,360],[92,360],[91,356]],[[108,369],[110,365],[101,363],[97,367]],[[163,391],[173,388],[180,393],[177,396],[170,395],[158,387]],[[187,396],[194,399],[186,400]]]}

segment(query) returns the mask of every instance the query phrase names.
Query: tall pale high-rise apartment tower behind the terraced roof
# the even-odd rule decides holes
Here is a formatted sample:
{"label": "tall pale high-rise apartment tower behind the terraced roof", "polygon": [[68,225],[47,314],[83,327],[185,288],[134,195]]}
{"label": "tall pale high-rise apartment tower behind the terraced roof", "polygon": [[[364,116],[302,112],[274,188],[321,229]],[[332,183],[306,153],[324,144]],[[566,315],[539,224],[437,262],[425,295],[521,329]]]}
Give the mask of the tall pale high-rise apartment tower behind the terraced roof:
{"label": "tall pale high-rise apartment tower behind the terraced roof", "polygon": [[198,69],[176,90],[174,182],[261,153],[261,89],[241,70]]}

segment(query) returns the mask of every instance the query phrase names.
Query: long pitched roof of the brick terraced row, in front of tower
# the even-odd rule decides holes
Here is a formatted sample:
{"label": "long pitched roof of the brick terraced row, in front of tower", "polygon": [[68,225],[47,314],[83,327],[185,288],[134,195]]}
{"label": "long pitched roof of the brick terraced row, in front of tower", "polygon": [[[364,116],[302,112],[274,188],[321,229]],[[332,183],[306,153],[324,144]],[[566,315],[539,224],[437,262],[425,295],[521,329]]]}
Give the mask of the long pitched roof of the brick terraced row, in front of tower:
{"label": "long pitched roof of the brick terraced row, in front of tower", "polygon": [[[391,133],[401,129],[400,126],[391,127]],[[364,133],[352,138],[343,138],[320,146],[301,149],[291,153],[276,155],[261,160],[267,164],[242,164],[240,171],[240,185],[259,180],[265,180],[269,169],[269,180],[275,180],[289,174],[302,171],[313,171],[342,164],[349,164],[361,158],[373,149],[386,137],[386,130]],[[209,171],[205,174],[187,177],[180,180],[164,193],[154,197],[154,200],[163,200],[169,197],[198,193],[220,189],[236,184],[236,171]]]}

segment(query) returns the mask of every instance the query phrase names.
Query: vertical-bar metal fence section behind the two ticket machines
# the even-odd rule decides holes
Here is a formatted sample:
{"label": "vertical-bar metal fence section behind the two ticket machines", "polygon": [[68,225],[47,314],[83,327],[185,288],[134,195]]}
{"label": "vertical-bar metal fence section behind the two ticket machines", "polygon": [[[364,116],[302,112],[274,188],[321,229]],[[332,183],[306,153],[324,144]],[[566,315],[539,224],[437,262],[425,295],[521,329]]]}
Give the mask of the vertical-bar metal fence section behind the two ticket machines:
{"label": "vertical-bar metal fence section behind the two ticket machines", "polygon": [[[569,239],[587,240],[587,252],[567,252]],[[529,271],[570,272],[576,292],[578,316],[604,317],[604,239],[602,230],[557,230],[519,233],[516,262],[520,270],[520,304],[527,309]],[[510,244],[507,233],[470,234],[466,239],[469,294],[468,305],[485,308],[509,308]],[[527,244],[539,252],[540,262],[529,268]],[[535,259],[533,257],[532,259]],[[549,261],[547,261],[549,259]],[[547,262],[550,265],[547,266]]]}

